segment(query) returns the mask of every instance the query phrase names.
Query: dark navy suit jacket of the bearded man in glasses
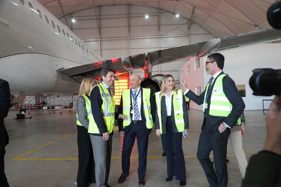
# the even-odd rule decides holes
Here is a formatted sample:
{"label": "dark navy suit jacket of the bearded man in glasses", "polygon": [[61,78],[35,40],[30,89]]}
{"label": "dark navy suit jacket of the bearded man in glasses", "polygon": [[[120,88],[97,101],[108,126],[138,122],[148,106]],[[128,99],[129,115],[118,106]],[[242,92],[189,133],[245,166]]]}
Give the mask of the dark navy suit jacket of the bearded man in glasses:
{"label": "dark navy suit jacket of the bearded man in glasses", "polygon": [[[221,72],[219,75],[221,75],[222,73],[223,72]],[[205,110],[205,113],[204,113],[205,118],[204,118],[203,125],[202,125],[202,130],[212,131],[212,132],[216,131],[219,124],[222,122],[224,122],[225,124],[227,124],[229,127],[232,128],[236,124],[238,118],[240,117],[241,113],[243,112],[243,110],[245,108],[245,104],[237,91],[234,81],[229,76],[224,76],[222,79],[222,87],[223,87],[222,89],[223,89],[225,96],[227,97],[229,102],[232,104],[231,113],[227,117],[209,115],[209,104],[210,104],[211,92],[213,89],[213,85],[216,81],[216,78],[214,79],[211,87],[209,88],[210,90],[208,91],[208,98],[207,98],[208,108]],[[191,99],[193,102],[197,103],[198,105],[201,105],[204,102],[204,95],[205,95],[206,91],[207,90],[205,88],[203,93],[201,93],[201,95],[197,96],[195,93],[193,93],[191,90],[189,90],[185,94],[185,96],[187,96],[189,99]],[[204,125],[206,125],[206,127],[204,127]],[[227,130],[228,130],[228,128],[227,128]]]}

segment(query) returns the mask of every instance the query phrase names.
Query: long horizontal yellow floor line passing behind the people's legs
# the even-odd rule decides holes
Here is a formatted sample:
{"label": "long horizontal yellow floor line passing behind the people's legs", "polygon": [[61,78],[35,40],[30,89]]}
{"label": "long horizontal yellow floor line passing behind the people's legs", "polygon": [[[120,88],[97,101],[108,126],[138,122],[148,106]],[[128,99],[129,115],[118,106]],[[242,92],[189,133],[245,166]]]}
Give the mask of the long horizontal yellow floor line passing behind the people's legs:
{"label": "long horizontal yellow floor line passing behind the people's legs", "polygon": [[[210,157],[213,157],[213,155],[210,155]],[[227,155],[227,157],[235,157],[234,155]],[[246,155],[247,158],[250,157],[250,155]],[[153,156],[147,156],[147,159],[164,159],[166,157],[153,157]],[[196,155],[187,155],[184,156],[184,158],[196,158]],[[111,159],[121,159],[120,157],[111,157]],[[138,159],[138,157],[130,157],[130,159]],[[13,158],[12,160],[17,161],[34,161],[34,160],[48,160],[48,161],[54,161],[54,160],[78,160],[78,158]]]}

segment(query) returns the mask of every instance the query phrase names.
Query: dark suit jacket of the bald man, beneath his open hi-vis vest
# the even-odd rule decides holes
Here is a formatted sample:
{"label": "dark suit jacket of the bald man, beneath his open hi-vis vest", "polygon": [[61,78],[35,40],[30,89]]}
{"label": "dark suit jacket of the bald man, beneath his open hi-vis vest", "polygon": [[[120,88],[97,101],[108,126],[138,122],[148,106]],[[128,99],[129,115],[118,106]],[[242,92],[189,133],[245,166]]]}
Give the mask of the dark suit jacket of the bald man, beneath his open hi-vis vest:
{"label": "dark suit jacket of the bald man, beneath his open hi-vis vest", "polygon": [[[140,105],[140,115],[141,115],[141,120],[146,122],[145,117],[144,117],[144,112],[143,112],[143,101],[142,101],[142,96],[143,96],[143,91],[141,88],[141,105]],[[127,99],[127,98],[124,98]],[[155,121],[155,99],[152,96],[152,92],[150,90],[150,97],[149,97],[149,102],[150,102],[150,107],[151,107],[151,116],[152,116],[152,121],[154,123]],[[131,92],[130,92],[130,111],[132,110],[132,100],[131,100]],[[119,107],[119,114],[123,114],[123,98],[121,97],[120,100],[120,107]],[[132,114],[130,113],[130,118],[132,119]],[[118,120],[118,125],[119,125],[119,132],[120,131],[125,131],[125,133],[127,131],[129,131],[131,129],[131,125],[127,126],[125,129],[123,128],[123,121],[122,120]],[[151,129],[147,129],[145,128],[147,133],[151,132]]]}

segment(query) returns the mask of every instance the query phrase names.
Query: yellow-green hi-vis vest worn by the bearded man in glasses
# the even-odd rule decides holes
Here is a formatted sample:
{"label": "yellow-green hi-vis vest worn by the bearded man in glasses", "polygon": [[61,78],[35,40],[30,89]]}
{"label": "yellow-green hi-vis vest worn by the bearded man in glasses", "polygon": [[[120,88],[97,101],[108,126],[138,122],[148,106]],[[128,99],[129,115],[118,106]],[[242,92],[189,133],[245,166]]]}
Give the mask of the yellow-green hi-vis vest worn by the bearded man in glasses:
{"label": "yellow-green hi-vis vest worn by the bearded man in glasses", "polygon": [[[209,107],[209,115],[210,116],[221,116],[221,117],[227,117],[232,110],[232,104],[229,102],[227,97],[225,96],[223,92],[223,85],[222,85],[222,79],[227,75],[221,74],[219,75],[213,85],[213,89],[210,95],[210,105]],[[207,83],[206,90],[208,90],[209,83]],[[204,103],[203,103],[203,112],[205,110],[205,100],[206,100],[207,93],[205,92],[204,95]],[[238,118],[237,124],[241,124],[241,119]]]}

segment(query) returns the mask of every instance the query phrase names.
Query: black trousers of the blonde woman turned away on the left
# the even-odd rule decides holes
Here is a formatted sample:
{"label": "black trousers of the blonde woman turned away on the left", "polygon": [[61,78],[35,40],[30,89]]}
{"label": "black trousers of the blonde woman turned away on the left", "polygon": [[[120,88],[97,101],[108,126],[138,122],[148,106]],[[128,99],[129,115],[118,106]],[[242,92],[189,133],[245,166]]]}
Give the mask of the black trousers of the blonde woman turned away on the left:
{"label": "black trousers of the blonde woman turned away on the left", "polygon": [[88,187],[95,183],[94,160],[87,129],[77,125],[78,173],[77,187]]}

